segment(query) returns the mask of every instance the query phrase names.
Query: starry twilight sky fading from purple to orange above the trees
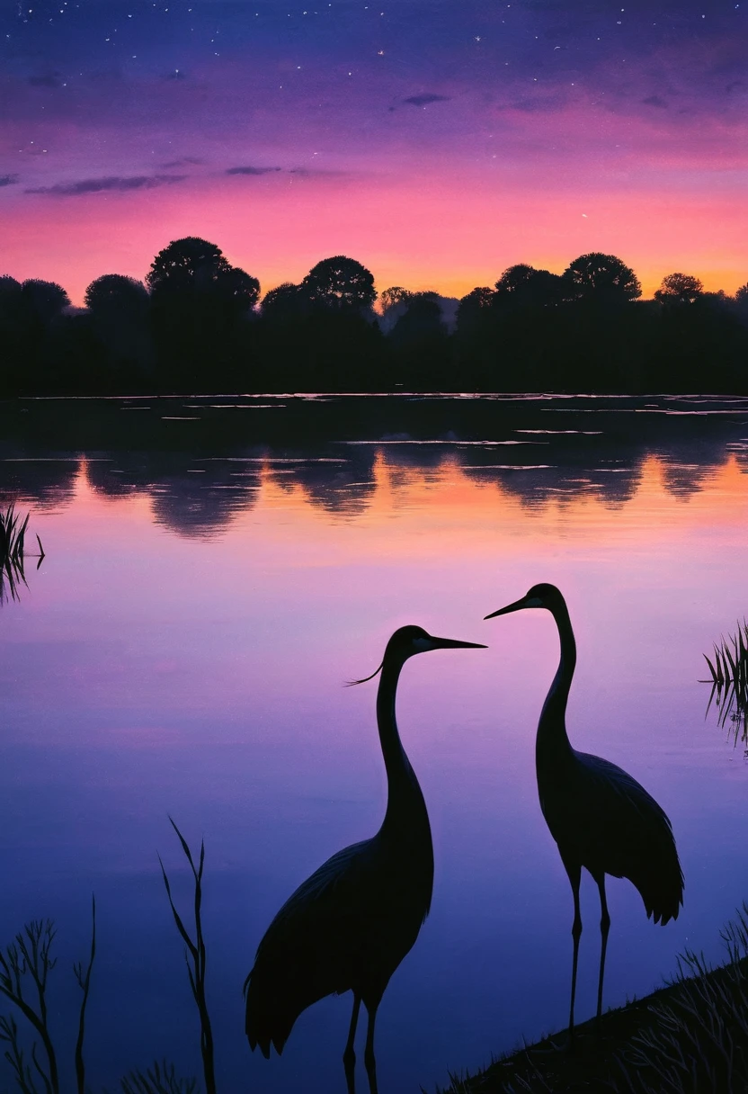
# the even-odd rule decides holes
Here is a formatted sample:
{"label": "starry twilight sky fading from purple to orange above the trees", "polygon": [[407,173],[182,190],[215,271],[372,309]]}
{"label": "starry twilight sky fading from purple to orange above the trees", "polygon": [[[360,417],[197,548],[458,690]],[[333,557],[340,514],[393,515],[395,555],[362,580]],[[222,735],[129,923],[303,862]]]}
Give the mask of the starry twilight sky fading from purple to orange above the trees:
{"label": "starry twilight sky fading from purple to orange above the trees", "polygon": [[748,280],[748,0],[3,0],[0,274]]}

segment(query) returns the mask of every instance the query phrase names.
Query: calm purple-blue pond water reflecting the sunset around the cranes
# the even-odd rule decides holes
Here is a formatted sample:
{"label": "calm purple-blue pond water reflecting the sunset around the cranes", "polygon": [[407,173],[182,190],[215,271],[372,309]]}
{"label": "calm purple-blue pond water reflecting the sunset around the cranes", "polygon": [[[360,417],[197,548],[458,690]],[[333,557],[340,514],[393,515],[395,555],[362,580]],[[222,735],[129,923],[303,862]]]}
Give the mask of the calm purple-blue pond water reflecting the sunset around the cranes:
{"label": "calm purple-blue pond water reflecting the sunset around the cranes", "polygon": [[[47,557],[0,607],[0,940],[57,922],[68,1090],[92,892],[91,1086],[155,1057],[199,1072],[156,858],[187,911],[171,814],[206,840],[220,1089],[344,1091],[350,996],[305,1012],[268,1062],[244,1039],[242,984],[295,886],[381,823],[376,680],[341,684],[410,622],[490,649],[401,677],[436,875],[379,1010],[381,1087],[431,1092],[563,1025],[572,899],[534,769],[558,639],[547,613],[482,621],[538,581],[576,630],[572,743],[657,798],[686,874],[664,929],[609,882],[606,1003],[658,986],[686,946],[720,956],[748,897],[748,766],[698,682],[748,609],[748,400],[28,400],[0,407],[11,498]],[[582,901],[580,1020],[599,940],[586,875]]]}

